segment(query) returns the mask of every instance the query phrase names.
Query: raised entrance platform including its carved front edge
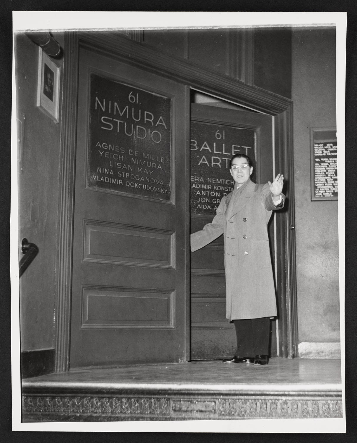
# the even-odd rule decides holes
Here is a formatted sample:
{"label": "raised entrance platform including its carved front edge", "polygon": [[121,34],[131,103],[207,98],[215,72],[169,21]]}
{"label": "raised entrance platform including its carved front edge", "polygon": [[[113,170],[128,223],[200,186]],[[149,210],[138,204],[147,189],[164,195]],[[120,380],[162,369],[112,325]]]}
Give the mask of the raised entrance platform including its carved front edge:
{"label": "raised entrance platform including its carved front edge", "polygon": [[338,418],[341,361],[83,368],[23,380],[23,421]]}

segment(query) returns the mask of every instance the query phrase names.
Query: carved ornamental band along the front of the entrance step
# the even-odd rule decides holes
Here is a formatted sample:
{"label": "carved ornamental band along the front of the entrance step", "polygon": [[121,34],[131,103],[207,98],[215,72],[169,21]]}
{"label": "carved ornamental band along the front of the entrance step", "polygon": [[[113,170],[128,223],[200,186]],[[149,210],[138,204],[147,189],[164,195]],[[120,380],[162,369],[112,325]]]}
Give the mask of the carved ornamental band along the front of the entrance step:
{"label": "carved ornamental band along the front of the entrance step", "polygon": [[341,417],[341,395],[23,396],[24,422]]}

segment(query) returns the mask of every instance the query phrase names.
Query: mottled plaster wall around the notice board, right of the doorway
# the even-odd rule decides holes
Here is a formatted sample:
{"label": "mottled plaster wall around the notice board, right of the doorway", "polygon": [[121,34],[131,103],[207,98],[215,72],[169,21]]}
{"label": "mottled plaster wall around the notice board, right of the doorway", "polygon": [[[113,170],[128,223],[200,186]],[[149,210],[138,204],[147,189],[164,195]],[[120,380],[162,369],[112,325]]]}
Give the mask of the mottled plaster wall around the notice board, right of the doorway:
{"label": "mottled plaster wall around the notice board, right of the doorway", "polygon": [[[336,126],[334,29],[293,29],[295,232],[299,349],[339,342],[338,203],[311,201],[310,128]],[[321,354],[321,352],[320,352]],[[323,354],[323,352],[322,352]],[[300,356],[301,353],[300,353]]]}

